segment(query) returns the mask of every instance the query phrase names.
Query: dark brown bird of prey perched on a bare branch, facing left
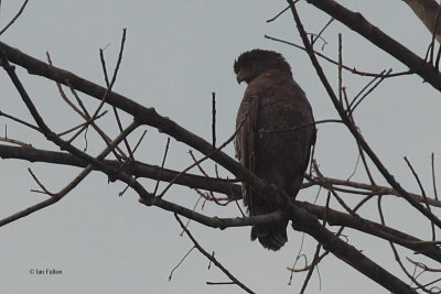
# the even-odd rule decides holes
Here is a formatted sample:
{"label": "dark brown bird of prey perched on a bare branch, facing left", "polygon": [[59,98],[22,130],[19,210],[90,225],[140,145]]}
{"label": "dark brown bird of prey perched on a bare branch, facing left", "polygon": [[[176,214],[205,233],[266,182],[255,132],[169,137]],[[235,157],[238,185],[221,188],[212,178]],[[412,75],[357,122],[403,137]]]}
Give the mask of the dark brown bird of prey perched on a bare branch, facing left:
{"label": "dark brown bird of prey perched on a bare branch, facing left", "polygon": [[[234,70],[239,84],[248,84],[237,113],[236,156],[258,177],[294,198],[315,143],[314,118],[306,96],[279,53],[245,52],[235,62]],[[243,194],[250,216],[280,208],[245,184]],[[288,219],[252,227],[251,240],[257,238],[265,248],[279,250],[288,241],[287,225]]]}

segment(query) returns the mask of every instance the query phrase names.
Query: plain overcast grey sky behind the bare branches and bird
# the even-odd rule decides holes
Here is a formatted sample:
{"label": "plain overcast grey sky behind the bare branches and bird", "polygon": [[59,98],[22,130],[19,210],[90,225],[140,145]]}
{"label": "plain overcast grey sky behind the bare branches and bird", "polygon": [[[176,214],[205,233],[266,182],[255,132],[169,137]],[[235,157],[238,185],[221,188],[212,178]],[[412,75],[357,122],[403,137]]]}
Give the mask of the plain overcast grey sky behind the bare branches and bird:
{"label": "plain overcast grey sky behind the bare branches and bird", "polygon": [[[361,11],[386,33],[423,56],[430,33],[402,1],[338,1]],[[21,1],[2,1],[0,26],[15,13]],[[286,7],[284,1],[30,1],[23,15],[1,36],[11,46],[45,61],[49,51],[54,65],[104,85],[98,50],[104,48],[110,68],[117,58],[122,29],[127,28],[125,55],[114,90],[170,117],[184,128],[211,139],[211,92],[217,97],[217,137],[226,140],[234,131],[235,117],[244,85],[237,85],[233,74],[234,59],[244,51],[267,48],[282,53],[293,68],[295,80],[306,92],[316,120],[336,118],[336,113],[314,74],[308,56],[297,48],[276,43],[265,34],[300,44],[292,15],[284,13],[276,22],[266,20]],[[318,33],[329,17],[304,1],[299,12],[309,32]],[[337,33],[343,33],[344,63],[357,69],[377,72],[405,70],[406,67],[364,41],[361,36],[334,22],[323,37],[323,52],[337,53]],[[336,81],[336,67],[322,62],[330,80]],[[56,131],[80,122],[62,101],[56,86],[43,78],[26,75],[18,68],[24,86],[39,110]],[[344,74],[344,85],[353,97],[368,78]],[[6,73],[0,74],[1,110],[31,118]],[[82,96],[89,108],[95,99]],[[430,154],[440,155],[439,135],[441,102],[439,94],[418,77],[389,79],[379,86],[356,111],[363,134],[386,166],[400,183],[418,192],[402,156],[407,155],[423,178],[431,185]],[[109,134],[116,134],[110,118]],[[126,122],[130,118],[126,118]],[[36,148],[55,146],[41,135],[21,126],[0,119],[1,135],[8,126],[8,135],[30,142]],[[138,151],[138,159],[160,164],[166,137],[147,128],[147,139]],[[131,139],[136,142],[141,131]],[[88,151],[99,152],[103,143],[90,132]],[[84,146],[84,141],[78,141]],[[166,166],[183,168],[192,163],[189,148],[171,141]],[[233,145],[226,148],[234,154]],[[315,157],[326,176],[346,178],[355,167],[357,150],[348,132],[336,124],[321,124]],[[213,163],[205,164],[214,172]],[[24,161],[0,162],[0,217],[43,199],[26,172],[31,167],[44,185],[56,192],[80,170]],[[193,171],[196,173],[197,171]],[[438,168],[438,173],[441,171]],[[222,176],[230,176],[222,171]],[[377,177],[379,184],[384,183]],[[362,172],[354,179],[366,182]],[[149,189],[153,181],[141,181]],[[172,214],[138,204],[138,197],[128,192],[118,197],[125,186],[107,183],[107,178],[92,174],[77,189],[58,204],[24,219],[0,228],[0,281],[3,293],[241,293],[235,285],[206,285],[205,282],[228,281],[215,266],[193,251],[173,273],[192,247],[186,237],[180,237],[180,227]],[[301,190],[301,199],[313,200],[316,188]],[[431,195],[431,193],[430,193]],[[187,207],[197,200],[196,193],[173,187],[166,199]],[[349,203],[358,196],[346,195]],[[323,203],[325,194],[320,194]],[[337,205],[333,204],[335,208]],[[406,204],[386,200],[385,213],[390,226],[397,225],[421,238],[430,235],[427,222]],[[340,208],[338,208],[340,209]],[[198,207],[201,210],[201,207]],[[372,213],[372,211],[374,213]],[[214,216],[237,216],[237,207],[216,207],[206,204],[203,213]],[[378,220],[375,205],[362,209],[363,216]],[[423,228],[423,229],[421,229]],[[295,274],[287,285],[291,266],[301,246],[302,235],[289,231],[289,242],[279,252],[263,250],[249,241],[249,228],[225,231],[190,225],[200,243],[230,272],[257,293],[298,293],[304,274]],[[334,230],[336,230],[334,228]],[[391,251],[385,241],[368,236],[346,232],[348,241],[390,271],[397,272]],[[303,250],[312,259],[315,242],[306,237]],[[409,252],[407,252],[409,254]],[[61,275],[35,275],[30,270],[62,270]],[[355,272],[330,255],[320,266],[321,293],[387,293],[376,283]],[[402,277],[402,274],[400,274]],[[309,293],[320,290],[313,274]]]}

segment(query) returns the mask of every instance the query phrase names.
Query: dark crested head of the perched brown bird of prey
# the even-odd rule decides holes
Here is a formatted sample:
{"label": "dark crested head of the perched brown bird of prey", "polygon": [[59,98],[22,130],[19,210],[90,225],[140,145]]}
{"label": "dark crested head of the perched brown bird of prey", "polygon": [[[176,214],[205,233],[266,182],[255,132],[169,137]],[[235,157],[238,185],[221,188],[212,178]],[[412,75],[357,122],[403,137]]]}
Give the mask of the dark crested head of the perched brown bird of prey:
{"label": "dark crested head of the perched brown bird of prey", "polygon": [[249,84],[260,74],[277,69],[291,74],[290,65],[284,61],[280,53],[266,50],[247,51],[235,61],[234,70],[237,83],[246,81]]}

